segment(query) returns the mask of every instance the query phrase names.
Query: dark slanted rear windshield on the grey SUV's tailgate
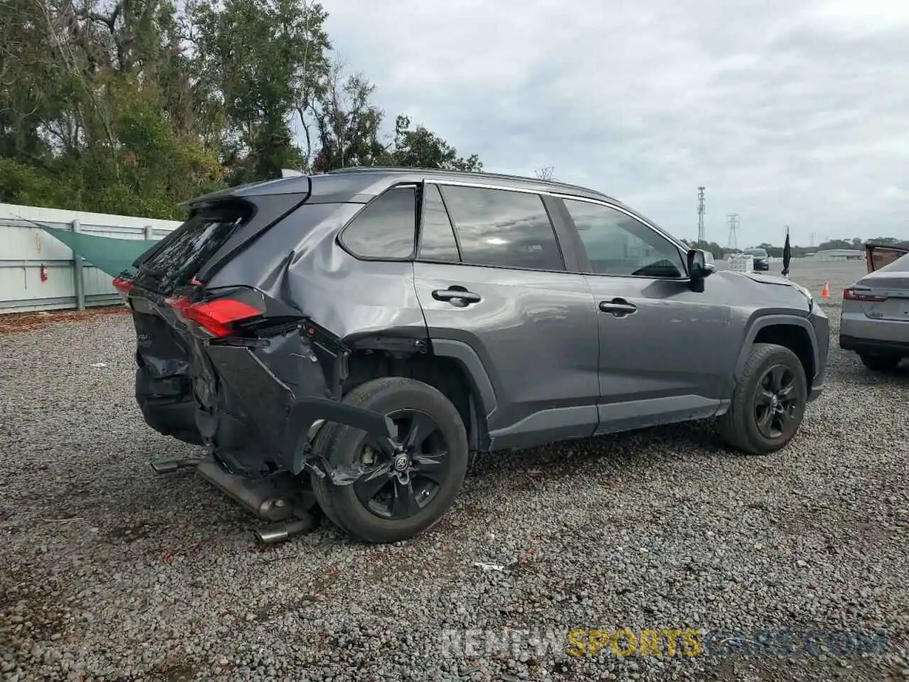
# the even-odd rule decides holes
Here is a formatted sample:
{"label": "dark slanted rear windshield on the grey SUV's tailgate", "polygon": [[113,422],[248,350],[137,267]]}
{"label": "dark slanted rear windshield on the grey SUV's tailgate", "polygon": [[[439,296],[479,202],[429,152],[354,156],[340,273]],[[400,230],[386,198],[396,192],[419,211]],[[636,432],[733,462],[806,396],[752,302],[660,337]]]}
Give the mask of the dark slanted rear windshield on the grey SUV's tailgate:
{"label": "dark slanted rear windshield on the grey SUV's tailgate", "polygon": [[252,214],[250,206],[225,202],[189,216],[161,240],[157,252],[142,264],[140,281],[145,279],[165,291],[189,284]]}

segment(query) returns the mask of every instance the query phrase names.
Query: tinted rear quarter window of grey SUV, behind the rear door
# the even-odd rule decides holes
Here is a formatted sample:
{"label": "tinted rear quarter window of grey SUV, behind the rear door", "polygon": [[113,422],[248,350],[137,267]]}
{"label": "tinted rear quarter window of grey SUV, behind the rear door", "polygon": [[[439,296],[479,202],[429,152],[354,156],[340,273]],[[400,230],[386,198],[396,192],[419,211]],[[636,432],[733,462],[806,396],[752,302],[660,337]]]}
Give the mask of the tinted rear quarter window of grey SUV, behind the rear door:
{"label": "tinted rear quarter window of grey SUV, behind the rear door", "polygon": [[407,258],[414,254],[416,190],[393,187],[360,211],[341,236],[344,245],[366,258]]}

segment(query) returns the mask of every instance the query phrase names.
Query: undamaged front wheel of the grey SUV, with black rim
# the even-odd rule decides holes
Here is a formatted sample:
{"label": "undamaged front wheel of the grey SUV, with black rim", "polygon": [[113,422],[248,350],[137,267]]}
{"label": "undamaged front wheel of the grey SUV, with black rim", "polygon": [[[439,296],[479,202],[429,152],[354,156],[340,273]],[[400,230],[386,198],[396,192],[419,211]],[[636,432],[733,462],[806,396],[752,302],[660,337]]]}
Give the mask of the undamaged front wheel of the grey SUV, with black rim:
{"label": "undamaged front wheel of the grey SUV, with black rim", "polygon": [[[765,391],[768,376],[782,376],[788,391]],[[732,405],[719,417],[720,435],[742,452],[768,455],[786,446],[798,432],[807,401],[808,382],[798,357],[784,346],[754,344]]]}

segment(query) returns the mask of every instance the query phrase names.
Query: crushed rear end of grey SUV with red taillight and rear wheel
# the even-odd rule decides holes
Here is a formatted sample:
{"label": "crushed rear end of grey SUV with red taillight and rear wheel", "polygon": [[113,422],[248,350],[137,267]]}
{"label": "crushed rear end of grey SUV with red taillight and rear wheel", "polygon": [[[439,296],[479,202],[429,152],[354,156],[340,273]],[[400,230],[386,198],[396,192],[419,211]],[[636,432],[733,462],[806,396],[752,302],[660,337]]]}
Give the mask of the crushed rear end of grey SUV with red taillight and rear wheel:
{"label": "crushed rear end of grey SUV with red taillight and rear wheel", "polygon": [[[312,527],[316,500],[337,523],[339,507],[351,515],[348,497],[383,497],[364,497],[364,484],[381,484],[385,505],[365,517],[355,509],[361,523],[339,525],[370,541],[409,537],[445,513],[464,476],[463,434],[442,426],[435,455],[427,449],[425,436],[446,408],[454,411],[447,404],[433,413],[441,394],[406,378],[386,386],[379,368],[349,376],[357,350],[387,362],[426,345],[406,264],[371,266],[335,244],[374,198],[373,182],[299,176],[200,197],[182,226],[115,280],[135,323],[135,398],[146,423],[207,451],[157,462],[155,471],[194,467],[276,524],[257,531],[266,542]],[[402,194],[414,201],[413,186]],[[342,401],[352,380],[361,399]],[[430,404],[428,419],[385,406],[402,390],[417,394],[407,405]],[[315,448],[320,431],[324,444]],[[365,436],[371,459],[338,446],[350,433]]]}

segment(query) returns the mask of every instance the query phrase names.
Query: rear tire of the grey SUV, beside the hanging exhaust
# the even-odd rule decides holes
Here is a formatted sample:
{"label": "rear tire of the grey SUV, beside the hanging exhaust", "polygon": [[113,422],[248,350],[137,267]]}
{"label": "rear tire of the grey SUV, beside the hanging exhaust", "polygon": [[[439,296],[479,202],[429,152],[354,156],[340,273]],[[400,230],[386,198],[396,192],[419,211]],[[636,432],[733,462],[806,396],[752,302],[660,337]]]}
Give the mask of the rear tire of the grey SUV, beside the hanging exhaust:
{"label": "rear tire of the grey SUV, beside the hanging exhaust", "polygon": [[[315,452],[327,461],[352,467],[361,465],[365,446],[371,446],[373,462],[362,466],[375,476],[371,480],[360,476],[342,486],[327,476],[313,476],[315,499],[325,516],[348,536],[372,543],[410,539],[435,526],[454,503],[467,470],[467,433],[457,409],[433,386],[397,376],[357,386],[344,402],[391,416],[395,423],[400,420],[405,433],[408,422],[413,425],[418,421],[418,433],[425,440],[420,441],[420,453],[410,453],[409,470],[399,474],[394,465],[400,462],[401,453],[380,451],[375,446],[378,439],[351,426],[326,424],[313,444]],[[381,486],[375,497],[367,492],[370,483],[375,483],[372,487]],[[411,495],[399,495],[406,492]],[[421,503],[424,496],[429,497],[428,502]],[[408,499],[409,507],[395,505]],[[402,514],[403,509],[411,513]]]}

